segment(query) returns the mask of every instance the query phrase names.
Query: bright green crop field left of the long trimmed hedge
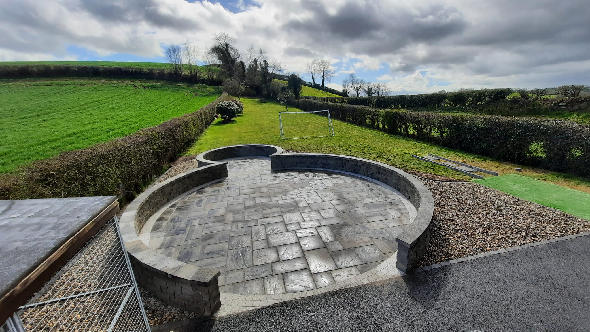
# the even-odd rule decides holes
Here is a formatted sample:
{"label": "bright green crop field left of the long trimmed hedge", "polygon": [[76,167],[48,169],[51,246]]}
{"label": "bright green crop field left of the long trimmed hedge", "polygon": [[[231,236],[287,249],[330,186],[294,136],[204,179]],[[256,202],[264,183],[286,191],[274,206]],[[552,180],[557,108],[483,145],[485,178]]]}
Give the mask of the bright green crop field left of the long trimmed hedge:
{"label": "bright green crop field left of the long trimmed hedge", "polygon": [[0,172],[156,126],[220,94],[158,81],[0,81]]}

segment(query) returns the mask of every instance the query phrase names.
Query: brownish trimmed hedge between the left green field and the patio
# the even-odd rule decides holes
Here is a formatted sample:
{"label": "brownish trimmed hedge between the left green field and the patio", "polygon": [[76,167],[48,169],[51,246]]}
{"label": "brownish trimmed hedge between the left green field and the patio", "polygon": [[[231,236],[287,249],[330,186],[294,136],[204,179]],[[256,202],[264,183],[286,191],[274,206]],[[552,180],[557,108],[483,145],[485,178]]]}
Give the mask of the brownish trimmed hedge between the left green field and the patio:
{"label": "brownish trimmed hedge between the left green field and the patio", "polygon": [[222,94],[211,104],[86,149],[60,153],[0,176],[0,199],[117,195],[133,199],[143,186],[162,174],[217,116]]}

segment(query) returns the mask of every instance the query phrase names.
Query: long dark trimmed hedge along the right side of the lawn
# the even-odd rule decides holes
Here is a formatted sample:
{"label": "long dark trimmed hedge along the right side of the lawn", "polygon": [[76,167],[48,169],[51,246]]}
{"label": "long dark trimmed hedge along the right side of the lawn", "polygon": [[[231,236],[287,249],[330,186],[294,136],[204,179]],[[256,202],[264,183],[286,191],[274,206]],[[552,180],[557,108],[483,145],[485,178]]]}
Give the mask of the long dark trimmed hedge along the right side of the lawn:
{"label": "long dark trimmed hedge along the right side of the lawn", "polygon": [[500,160],[590,177],[590,126],[523,117],[378,110],[311,99],[304,111],[330,110],[334,119],[385,130]]}

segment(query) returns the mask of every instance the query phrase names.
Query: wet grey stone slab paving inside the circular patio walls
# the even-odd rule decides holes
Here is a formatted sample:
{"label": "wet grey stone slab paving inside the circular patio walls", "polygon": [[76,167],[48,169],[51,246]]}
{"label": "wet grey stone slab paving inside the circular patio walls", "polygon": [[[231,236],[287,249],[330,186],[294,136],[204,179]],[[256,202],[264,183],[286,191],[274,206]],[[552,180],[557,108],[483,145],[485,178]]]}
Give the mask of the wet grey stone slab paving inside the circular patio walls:
{"label": "wet grey stone slab paving inside the circular patio walls", "polygon": [[358,277],[396,251],[412,214],[399,193],[359,177],[273,173],[268,159],[229,160],[228,173],[146,224],[153,249],[220,269],[221,292],[284,294]]}

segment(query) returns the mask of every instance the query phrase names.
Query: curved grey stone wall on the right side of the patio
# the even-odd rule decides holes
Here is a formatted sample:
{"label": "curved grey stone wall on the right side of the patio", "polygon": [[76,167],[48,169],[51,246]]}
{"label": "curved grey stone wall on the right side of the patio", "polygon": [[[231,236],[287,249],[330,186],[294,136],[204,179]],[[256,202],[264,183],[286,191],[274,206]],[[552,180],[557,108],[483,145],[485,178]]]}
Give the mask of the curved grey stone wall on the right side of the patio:
{"label": "curved grey stone wall on the right side of the patio", "polygon": [[396,267],[404,272],[416,267],[430,242],[430,223],[434,213],[434,198],[414,176],[401,169],[350,156],[319,153],[289,153],[271,156],[271,169],[325,169],[356,173],[391,186],[404,195],[418,213],[408,228],[399,234]]}

